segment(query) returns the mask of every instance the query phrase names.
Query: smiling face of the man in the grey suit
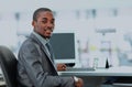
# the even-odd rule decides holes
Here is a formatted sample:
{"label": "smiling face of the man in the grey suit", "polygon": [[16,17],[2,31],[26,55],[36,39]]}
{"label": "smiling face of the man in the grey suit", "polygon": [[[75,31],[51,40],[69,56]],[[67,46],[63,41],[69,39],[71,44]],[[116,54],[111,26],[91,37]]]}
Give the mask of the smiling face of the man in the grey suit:
{"label": "smiling face of the man in the grey suit", "polygon": [[50,11],[41,12],[36,21],[32,22],[34,31],[41,34],[43,37],[50,39],[54,30],[55,19]]}

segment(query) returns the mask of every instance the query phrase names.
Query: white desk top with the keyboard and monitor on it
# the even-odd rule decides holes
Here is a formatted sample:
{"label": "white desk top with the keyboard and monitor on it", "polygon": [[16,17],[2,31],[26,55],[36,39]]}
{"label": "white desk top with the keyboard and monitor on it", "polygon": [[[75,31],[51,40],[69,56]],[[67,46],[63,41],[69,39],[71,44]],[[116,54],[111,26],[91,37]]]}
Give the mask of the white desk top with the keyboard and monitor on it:
{"label": "white desk top with the keyboard and monitor on it", "polygon": [[132,67],[120,66],[111,68],[99,68],[91,72],[58,72],[59,75],[66,76],[132,76]]}

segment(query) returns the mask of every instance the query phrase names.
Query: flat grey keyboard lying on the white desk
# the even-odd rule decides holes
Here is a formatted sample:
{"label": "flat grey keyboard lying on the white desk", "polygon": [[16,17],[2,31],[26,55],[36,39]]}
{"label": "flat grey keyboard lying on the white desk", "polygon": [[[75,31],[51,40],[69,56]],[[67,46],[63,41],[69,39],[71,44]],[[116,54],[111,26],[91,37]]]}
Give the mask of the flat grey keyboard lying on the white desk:
{"label": "flat grey keyboard lying on the white desk", "polygon": [[67,72],[90,72],[90,70],[95,70],[95,68],[92,68],[92,67],[88,67],[88,68],[67,67],[66,70],[67,70]]}

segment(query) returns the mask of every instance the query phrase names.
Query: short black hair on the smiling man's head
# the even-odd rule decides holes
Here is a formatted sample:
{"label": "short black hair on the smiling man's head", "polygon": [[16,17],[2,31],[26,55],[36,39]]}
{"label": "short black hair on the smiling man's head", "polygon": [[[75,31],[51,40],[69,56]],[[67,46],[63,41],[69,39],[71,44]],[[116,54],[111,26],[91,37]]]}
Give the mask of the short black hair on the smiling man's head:
{"label": "short black hair on the smiling man's head", "polygon": [[51,9],[48,8],[40,8],[40,9],[36,9],[33,13],[33,20],[34,21],[37,21],[37,17],[41,12],[45,12],[45,11],[50,11],[50,12],[53,12]]}

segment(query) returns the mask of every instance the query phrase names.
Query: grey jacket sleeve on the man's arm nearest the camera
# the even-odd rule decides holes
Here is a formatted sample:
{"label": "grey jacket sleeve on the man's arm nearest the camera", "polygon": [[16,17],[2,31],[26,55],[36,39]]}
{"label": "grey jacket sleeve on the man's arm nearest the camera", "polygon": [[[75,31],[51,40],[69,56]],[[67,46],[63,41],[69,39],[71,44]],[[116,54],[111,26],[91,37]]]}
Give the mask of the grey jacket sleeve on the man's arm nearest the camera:
{"label": "grey jacket sleeve on the man's arm nearest the camera", "polygon": [[[43,69],[40,47],[35,44],[23,45],[19,57],[26,70],[30,80],[35,87],[74,87],[72,77],[52,76]],[[53,67],[54,68],[54,67]]]}

